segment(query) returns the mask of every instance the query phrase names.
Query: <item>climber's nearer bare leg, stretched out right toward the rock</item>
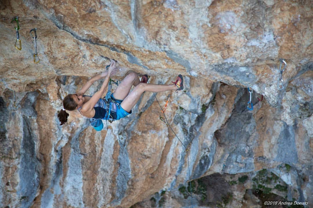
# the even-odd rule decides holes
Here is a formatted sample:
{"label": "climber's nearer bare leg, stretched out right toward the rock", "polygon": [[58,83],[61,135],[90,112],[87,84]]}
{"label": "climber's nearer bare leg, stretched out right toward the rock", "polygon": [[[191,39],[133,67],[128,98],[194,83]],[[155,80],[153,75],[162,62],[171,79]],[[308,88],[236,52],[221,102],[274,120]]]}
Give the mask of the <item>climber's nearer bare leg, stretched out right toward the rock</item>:
{"label": "climber's nearer bare leg, stretched out right toward the rock", "polygon": [[123,100],[121,103],[121,107],[126,110],[127,112],[130,112],[131,109],[136,105],[138,102],[140,96],[145,91],[148,92],[164,92],[167,90],[174,90],[177,89],[177,87],[172,85],[155,85],[155,84],[147,84],[147,83],[139,83]]}

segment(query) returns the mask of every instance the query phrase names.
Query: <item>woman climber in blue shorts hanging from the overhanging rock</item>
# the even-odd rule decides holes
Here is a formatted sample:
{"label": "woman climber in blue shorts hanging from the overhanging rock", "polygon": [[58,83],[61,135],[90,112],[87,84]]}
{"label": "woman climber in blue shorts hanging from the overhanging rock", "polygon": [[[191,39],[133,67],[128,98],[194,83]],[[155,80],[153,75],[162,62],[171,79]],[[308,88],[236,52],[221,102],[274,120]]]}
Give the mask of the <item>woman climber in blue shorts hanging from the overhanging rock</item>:
{"label": "woman climber in blue shorts hanging from the overhanging rock", "polygon": [[[90,121],[92,122],[91,125],[99,131],[103,128],[101,119],[119,120],[131,114],[131,109],[135,106],[141,94],[145,91],[163,92],[167,90],[184,89],[182,75],[177,76],[176,81],[172,82],[174,84],[156,85],[147,83],[147,75],[142,76],[140,81],[138,75],[131,71],[117,86],[114,93],[111,94],[108,100],[101,99],[101,97],[104,96],[106,87],[108,86],[110,76],[114,75],[116,71],[116,62],[111,60],[108,70],[90,78],[90,80],[88,80],[88,82],[76,94],[68,94],[63,99],[63,109],[58,114],[58,118],[61,122],[60,125],[67,122],[69,114],[65,110],[72,111],[78,109],[80,114],[90,118]],[[93,96],[84,95],[90,86],[101,78],[105,79],[100,90]],[[132,85],[134,85],[135,88],[130,92]],[[95,123],[94,121],[98,122]]]}

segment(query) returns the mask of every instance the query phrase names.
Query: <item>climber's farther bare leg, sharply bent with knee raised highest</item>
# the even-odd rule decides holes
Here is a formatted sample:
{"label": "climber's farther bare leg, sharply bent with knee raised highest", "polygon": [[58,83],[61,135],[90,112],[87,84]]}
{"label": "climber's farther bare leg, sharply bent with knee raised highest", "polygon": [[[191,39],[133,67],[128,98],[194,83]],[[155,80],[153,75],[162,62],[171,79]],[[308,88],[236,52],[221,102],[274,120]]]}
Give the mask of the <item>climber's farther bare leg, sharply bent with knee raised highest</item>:
{"label": "climber's farther bare leg, sharply bent with knee raised highest", "polygon": [[126,96],[129,94],[131,87],[137,86],[140,83],[138,78],[138,74],[131,71],[126,77],[121,81],[121,83],[117,86],[114,91],[114,98],[119,100],[124,100]]}

